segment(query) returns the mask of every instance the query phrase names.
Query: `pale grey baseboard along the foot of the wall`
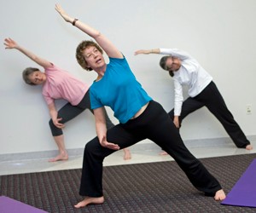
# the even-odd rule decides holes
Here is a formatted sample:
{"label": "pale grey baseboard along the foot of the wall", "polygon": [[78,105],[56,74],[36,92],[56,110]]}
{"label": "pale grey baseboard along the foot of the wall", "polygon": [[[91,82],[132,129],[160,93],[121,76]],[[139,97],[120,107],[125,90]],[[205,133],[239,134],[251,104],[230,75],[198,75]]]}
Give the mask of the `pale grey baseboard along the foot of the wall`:
{"label": "pale grey baseboard along the foot of the wall", "polygon": [[[247,135],[247,139],[249,141],[256,141],[256,135]],[[234,144],[233,141],[231,141],[230,137],[186,140],[184,141],[184,143],[188,148],[224,146],[224,145]],[[160,150],[160,147],[158,147],[154,142],[149,140],[139,142],[129,148],[131,150],[131,153],[150,151],[150,150]],[[83,156],[84,147],[68,149],[67,152],[70,157]],[[18,161],[18,160],[34,160],[34,159],[52,158],[53,156],[57,155],[57,153],[58,153],[57,150],[44,151],[44,152],[31,152],[31,153],[7,153],[7,154],[0,154],[0,161],[3,163],[3,162],[9,162],[9,161]]]}

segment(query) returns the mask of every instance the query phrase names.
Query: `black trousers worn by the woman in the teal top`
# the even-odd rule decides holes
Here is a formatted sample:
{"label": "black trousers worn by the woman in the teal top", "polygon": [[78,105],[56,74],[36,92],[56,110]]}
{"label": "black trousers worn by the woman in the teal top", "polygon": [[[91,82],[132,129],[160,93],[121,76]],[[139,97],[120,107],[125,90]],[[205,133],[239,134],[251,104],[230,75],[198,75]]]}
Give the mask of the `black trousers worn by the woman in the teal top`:
{"label": "black trousers worn by the woman in the teal top", "polygon": [[[172,119],[159,103],[150,101],[138,118],[131,119],[126,124],[118,124],[107,132],[107,140],[119,144],[121,149],[146,138],[166,150],[198,190],[213,196],[221,189],[219,182],[204,165],[189,153]],[[97,137],[85,145],[80,195],[89,197],[103,195],[102,162],[114,152],[102,147]]]}

